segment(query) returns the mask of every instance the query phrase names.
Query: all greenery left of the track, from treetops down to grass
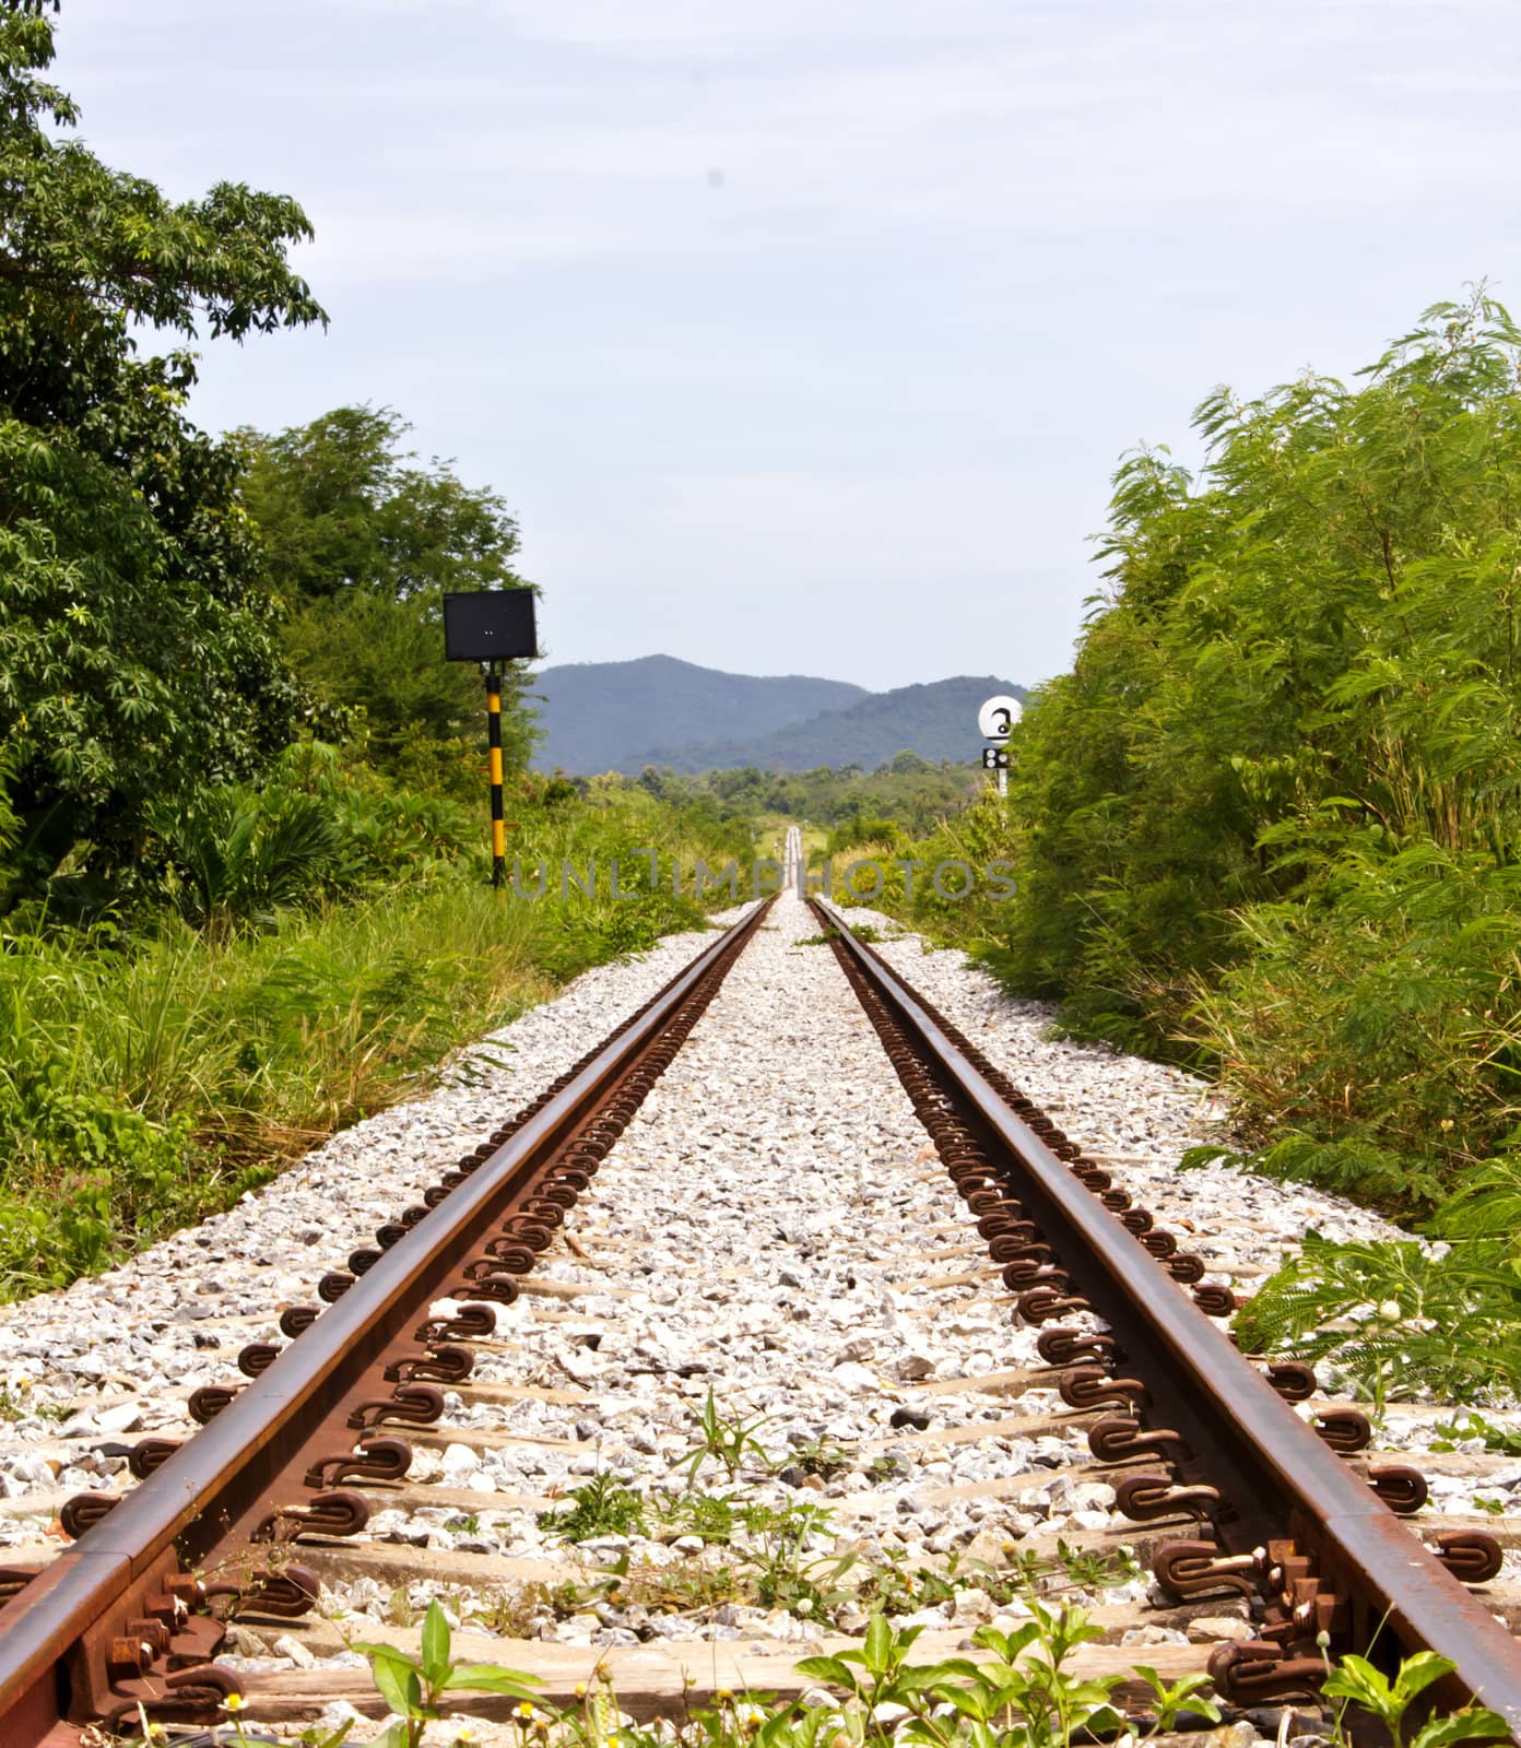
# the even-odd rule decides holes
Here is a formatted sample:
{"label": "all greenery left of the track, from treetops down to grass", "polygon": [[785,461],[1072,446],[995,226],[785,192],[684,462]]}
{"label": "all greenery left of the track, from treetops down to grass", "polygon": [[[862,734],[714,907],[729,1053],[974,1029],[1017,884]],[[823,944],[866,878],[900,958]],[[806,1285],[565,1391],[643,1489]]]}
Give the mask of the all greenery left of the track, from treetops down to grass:
{"label": "all greenery left of the track, from treetops down to grass", "polygon": [[311,227],[94,157],[54,12],[0,0],[0,1295],[226,1204],[556,981],[701,926],[671,860],[750,843],[535,780],[514,671],[512,851],[659,846],[663,877],[617,905],[484,888],[481,682],[442,661],[441,596],[516,584],[516,523],[388,409],[196,428],[191,343],[325,323],[290,264]]}

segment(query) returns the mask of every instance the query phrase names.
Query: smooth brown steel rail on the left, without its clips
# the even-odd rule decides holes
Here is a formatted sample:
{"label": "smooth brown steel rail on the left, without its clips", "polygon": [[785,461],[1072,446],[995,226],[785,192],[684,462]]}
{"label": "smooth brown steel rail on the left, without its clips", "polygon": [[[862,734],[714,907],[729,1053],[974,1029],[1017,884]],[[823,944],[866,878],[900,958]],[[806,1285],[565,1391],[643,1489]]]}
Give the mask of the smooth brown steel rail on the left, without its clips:
{"label": "smooth brown steel rail on the left, without its clips", "polygon": [[[145,1577],[194,1564],[240,1521],[343,1388],[364,1376],[418,1313],[423,1283],[467,1255],[493,1210],[573,1134],[659,1044],[705,979],[727,970],[766,900],[619,1028],[586,1066],[458,1189],[386,1250],[350,1292],[254,1377],[210,1425],[0,1608],[0,1739],[49,1741],[70,1717],[68,1659]],[[428,1297],[423,1294],[423,1297]],[[467,1297],[467,1295],[460,1295]],[[59,1739],[52,1736],[52,1739]]]}

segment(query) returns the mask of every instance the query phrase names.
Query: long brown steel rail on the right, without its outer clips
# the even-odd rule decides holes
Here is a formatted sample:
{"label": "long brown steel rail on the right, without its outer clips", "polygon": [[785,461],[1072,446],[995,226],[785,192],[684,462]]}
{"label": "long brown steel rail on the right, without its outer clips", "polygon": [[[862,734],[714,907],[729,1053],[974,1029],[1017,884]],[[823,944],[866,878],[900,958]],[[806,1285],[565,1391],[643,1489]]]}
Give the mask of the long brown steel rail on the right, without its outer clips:
{"label": "long brown steel rail on the right, without its outer clips", "polygon": [[1170,1416],[1184,1421],[1196,1474],[1229,1474],[1222,1540],[1248,1547],[1264,1530],[1306,1542],[1320,1578],[1353,1603],[1350,1643],[1367,1650],[1379,1631],[1404,1654],[1432,1650],[1455,1675],[1437,1689],[1500,1713],[1521,1741],[1521,1645],[1481,1598],[1430,1554],[1372,1489],[1292,1411],[1199,1311],[1142,1243],[1019,1119],[946,1035],[914,989],[839,912],[811,900],[837,947],[932,1065],[997,1155],[1012,1164],[1012,1192],[1030,1206],[1082,1297],[1105,1318],[1157,1393],[1171,1384]]}

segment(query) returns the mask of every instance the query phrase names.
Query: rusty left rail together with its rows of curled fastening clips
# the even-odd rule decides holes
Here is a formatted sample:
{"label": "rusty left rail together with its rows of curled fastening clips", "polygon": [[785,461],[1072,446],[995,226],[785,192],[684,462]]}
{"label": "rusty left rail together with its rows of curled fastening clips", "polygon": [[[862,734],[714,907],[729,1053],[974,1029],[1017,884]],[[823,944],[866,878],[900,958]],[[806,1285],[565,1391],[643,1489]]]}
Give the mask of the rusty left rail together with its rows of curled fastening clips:
{"label": "rusty left rail together with its rows of curled fastening clips", "polygon": [[[73,1732],[65,1724],[135,1717],[138,1701],[150,1717],[198,1722],[236,1692],[236,1676],[212,1662],[222,1627],[196,1612],[208,1589],[245,1591],[274,1615],[309,1606],[315,1578],[278,1559],[260,1564],[260,1550],[294,1543],[301,1533],[362,1528],[367,1505],[341,1481],[399,1479],[411,1460],[404,1440],[365,1433],[437,1419],[439,1391],[416,1379],[465,1376],[474,1356],[448,1341],[490,1334],[490,1299],[516,1297],[514,1276],[547,1245],[558,1210],[575,1201],[577,1185],[584,1189],[769,902],[698,954],[561,1077],[558,1091],[462,1161],[467,1169],[425,1197],[427,1213],[409,1210],[416,1218],[392,1229],[390,1248],[357,1252],[353,1274],[329,1274],[318,1288],[330,1299],[323,1314],[287,1313],[281,1327],[299,1339],[285,1349],[245,1349],[255,1369],[250,1383],[215,1393],[206,1404],[213,1418],[182,1446],[147,1440],[157,1449],[145,1458],[154,1467],[138,1488],[108,1509],[100,1502],[100,1516],[75,1512],[80,1540],[0,1608],[5,1748],[68,1743]],[[579,1175],[566,1171],[566,1150]],[[559,1189],[559,1199],[533,1197],[551,1166],[559,1176],[547,1187]],[[469,1266],[504,1213],[507,1238],[490,1239],[495,1248]],[[465,1302],[455,1327],[428,1320],[427,1308],[442,1297]],[[425,1323],[407,1334],[420,1313]],[[409,1341],[416,1346],[399,1370],[393,1355]],[[388,1358],[390,1369],[378,1370]],[[365,1388],[371,1397],[383,1391],[383,1381],[395,1386],[390,1398],[357,1400]]]}

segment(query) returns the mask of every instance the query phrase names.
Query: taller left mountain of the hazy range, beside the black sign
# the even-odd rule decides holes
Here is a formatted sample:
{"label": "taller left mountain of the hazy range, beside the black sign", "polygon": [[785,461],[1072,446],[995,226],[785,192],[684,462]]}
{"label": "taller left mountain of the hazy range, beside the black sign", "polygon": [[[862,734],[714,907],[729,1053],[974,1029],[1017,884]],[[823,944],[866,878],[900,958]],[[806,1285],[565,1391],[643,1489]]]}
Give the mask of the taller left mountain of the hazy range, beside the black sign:
{"label": "taller left mountain of the hazy range, beside the black sign", "polygon": [[[537,690],[544,771],[642,771],[645,748],[769,734],[871,697],[864,685],[788,673],[760,678],[698,668],[675,656],[545,668]],[[664,762],[664,760],[661,760]]]}

